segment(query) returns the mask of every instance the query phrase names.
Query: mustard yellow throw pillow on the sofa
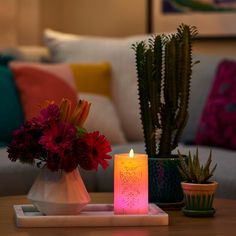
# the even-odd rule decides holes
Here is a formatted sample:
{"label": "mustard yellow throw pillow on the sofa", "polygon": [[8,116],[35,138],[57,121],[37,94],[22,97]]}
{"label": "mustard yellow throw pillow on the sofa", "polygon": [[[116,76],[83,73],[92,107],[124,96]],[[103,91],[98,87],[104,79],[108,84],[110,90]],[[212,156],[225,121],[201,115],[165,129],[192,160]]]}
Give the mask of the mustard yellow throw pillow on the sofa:
{"label": "mustard yellow throw pillow on the sofa", "polygon": [[70,64],[78,92],[111,97],[111,66],[109,63]]}

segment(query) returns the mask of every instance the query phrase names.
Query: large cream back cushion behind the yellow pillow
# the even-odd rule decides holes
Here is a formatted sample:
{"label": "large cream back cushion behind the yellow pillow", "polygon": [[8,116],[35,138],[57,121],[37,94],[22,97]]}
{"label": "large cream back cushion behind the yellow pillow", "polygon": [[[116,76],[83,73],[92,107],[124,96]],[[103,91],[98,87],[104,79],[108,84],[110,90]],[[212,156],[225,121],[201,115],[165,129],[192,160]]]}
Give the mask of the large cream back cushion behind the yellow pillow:
{"label": "large cream back cushion behind the yellow pillow", "polygon": [[44,40],[54,62],[100,62],[112,65],[112,95],[129,141],[143,140],[132,44],[150,35],[127,38],[75,36],[45,30]]}

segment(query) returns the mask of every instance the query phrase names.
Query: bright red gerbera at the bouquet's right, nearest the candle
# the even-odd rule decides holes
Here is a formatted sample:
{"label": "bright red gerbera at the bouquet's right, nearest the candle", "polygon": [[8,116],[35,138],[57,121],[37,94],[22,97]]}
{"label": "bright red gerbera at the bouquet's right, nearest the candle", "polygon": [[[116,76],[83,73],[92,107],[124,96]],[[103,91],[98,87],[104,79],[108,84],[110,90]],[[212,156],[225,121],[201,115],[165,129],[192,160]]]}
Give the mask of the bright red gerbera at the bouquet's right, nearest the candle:
{"label": "bright red gerbera at the bouquet's right, nearest the candle", "polygon": [[103,169],[108,167],[106,159],[111,159],[111,156],[107,154],[111,151],[111,146],[105,136],[100,135],[98,131],[87,133],[83,138],[78,139],[76,150],[79,165],[85,170],[97,170],[99,164]]}

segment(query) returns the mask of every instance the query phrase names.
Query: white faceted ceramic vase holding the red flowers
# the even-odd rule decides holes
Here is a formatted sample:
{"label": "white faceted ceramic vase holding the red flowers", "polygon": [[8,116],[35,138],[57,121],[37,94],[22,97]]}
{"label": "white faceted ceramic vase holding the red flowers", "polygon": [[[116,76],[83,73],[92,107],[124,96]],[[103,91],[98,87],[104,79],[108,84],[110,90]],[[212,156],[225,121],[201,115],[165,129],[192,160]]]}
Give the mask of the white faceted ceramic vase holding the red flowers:
{"label": "white faceted ceramic vase holding the red flowers", "polygon": [[28,199],[46,215],[75,215],[90,202],[78,169],[66,173],[42,169]]}

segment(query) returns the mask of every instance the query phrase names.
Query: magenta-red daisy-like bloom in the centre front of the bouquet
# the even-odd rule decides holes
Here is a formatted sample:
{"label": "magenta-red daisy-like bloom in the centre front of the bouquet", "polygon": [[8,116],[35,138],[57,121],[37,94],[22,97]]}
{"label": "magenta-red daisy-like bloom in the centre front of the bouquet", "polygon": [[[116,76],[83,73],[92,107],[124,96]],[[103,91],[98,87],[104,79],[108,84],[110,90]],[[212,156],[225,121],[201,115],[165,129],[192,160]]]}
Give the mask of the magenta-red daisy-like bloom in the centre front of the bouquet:
{"label": "magenta-red daisy-like bloom in the centre front of the bouquet", "polygon": [[67,123],[53,124],[50,129],[43,132],[39,144],[52,153],[63,154],[65,150],[71,150],[76,138],[76,128]]}

